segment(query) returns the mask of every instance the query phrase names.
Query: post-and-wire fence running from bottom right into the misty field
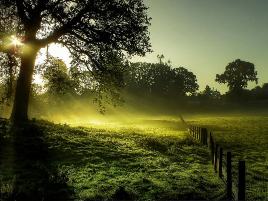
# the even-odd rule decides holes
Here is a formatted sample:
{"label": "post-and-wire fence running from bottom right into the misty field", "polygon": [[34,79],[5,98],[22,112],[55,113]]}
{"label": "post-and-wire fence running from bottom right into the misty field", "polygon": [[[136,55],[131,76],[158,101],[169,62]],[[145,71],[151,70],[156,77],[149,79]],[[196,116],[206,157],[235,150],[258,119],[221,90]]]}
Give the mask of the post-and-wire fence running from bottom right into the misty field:
{"label": "post-and-wire fence running from bottom right into the misty field", "polygon": [[[227,188],[229,200],[265,200],[268,201],[268,178],[256,174],[245,167],[245,161],[238,161],[238,170],[232,166],[231,152],[214,144],[213,136],[206,128],[196,127],[180,120],[194,138],[210,148],[211,163]],[[219,148],[219,150],[218,150]],[[225,159],[226,158],[226,159]],[[236,167],[237,168],[237,167]]]}

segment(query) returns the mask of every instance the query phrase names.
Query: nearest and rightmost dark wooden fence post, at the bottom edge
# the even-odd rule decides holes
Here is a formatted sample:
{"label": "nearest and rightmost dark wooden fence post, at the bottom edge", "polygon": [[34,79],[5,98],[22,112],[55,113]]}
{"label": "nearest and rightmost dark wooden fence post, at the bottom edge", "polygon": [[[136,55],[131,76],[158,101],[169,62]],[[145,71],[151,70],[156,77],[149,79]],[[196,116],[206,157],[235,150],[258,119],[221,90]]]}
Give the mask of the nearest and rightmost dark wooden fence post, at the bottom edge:
{"label": "nearest and rightmost dark wooden fence post, at the bottom edge", "polygon": [[245,160],[238,162],[238,200],[245,200]]}

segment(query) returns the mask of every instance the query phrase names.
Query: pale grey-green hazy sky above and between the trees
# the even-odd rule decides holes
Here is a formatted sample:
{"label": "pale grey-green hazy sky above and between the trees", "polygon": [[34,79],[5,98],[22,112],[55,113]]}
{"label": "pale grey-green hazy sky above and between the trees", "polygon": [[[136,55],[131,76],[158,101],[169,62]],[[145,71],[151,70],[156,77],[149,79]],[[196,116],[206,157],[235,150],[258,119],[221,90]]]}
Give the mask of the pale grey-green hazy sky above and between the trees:
{"label": "pale grey-green hazy sky above and between the trees", "polygon": [[[157,55],[182,66],[197,77],[199,91],[206,85],[225,93],[216,74],[235,59],[251,62],[258,85],[268,82],[268,1],[266,0],[144,0],[152,17],[149,27],[153,53],[132,62],[158,63]],[[68,51],[50,47],[53,56],[70,62]],[[255,83],[248,83],[248,89]]]}

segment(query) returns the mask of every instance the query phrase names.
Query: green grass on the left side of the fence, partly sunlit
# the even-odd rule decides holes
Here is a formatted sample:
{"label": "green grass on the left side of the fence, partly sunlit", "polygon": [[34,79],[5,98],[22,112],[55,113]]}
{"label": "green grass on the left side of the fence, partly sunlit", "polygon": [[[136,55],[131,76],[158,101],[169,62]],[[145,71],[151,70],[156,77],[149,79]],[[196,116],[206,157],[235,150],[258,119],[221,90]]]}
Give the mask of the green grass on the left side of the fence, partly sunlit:
{"label": "green grass on the left side of the fence, partly sunlit", "polygon": [[177,119],[91,123],[97,128],[33,119],[19,131],[0,124],[2,199],[225,199],[209,150]]}

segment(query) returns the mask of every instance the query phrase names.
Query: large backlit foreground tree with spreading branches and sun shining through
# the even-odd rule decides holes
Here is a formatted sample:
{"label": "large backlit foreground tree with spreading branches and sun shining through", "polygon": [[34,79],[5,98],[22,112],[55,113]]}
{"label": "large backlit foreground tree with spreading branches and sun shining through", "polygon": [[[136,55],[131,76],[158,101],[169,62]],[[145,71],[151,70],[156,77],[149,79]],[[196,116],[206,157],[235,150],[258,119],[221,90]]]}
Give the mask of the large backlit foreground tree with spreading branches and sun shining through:
{"label": "large backlit foreground tree with spreading branches and sun shining through", "polygon": [[[118,75],[109,60],[151,52],[147,9],[142,0],[0,0],[0,51],[21,58],[11,119],[28,119],[34,65],[41,48],[51,43],[67,47],[73,59],[101,83],[109,74]],[[20,40],[20,48],[11,43],[11,36]]]}

